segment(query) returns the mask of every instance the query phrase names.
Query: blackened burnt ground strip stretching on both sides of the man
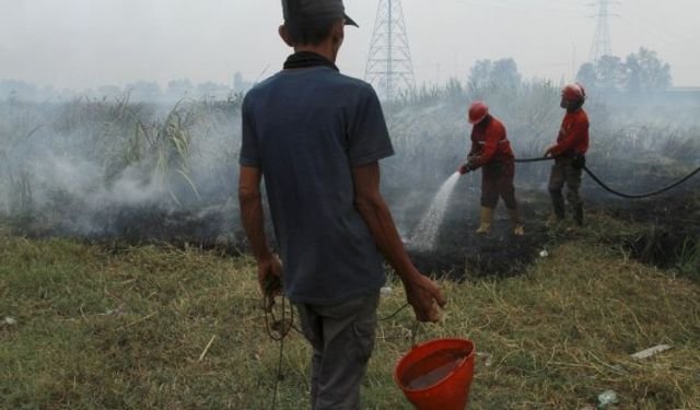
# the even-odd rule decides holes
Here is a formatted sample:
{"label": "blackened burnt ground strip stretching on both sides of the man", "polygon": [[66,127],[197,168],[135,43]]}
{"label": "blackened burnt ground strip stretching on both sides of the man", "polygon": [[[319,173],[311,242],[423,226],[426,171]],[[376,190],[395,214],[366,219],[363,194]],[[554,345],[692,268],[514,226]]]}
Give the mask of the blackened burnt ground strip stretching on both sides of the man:
{"label": "blackened burnt ground strip stretching on both sides of the man", "polygon": [[[411,259],[424,273],[459,281],[515,276],[524,272],[537,258],[547,257],[549,249],[581,238],[603,242],[610,249],[619,249],[630,258],[660,268],[687,265],[686,269],[690,269],[689,263],[697,267],[700,233],[697,183],[655,198],[626,200],[600,191],[591,178],[585,178],[582,191],[586,199],[586,224],[583,227],[578,227],[570,218],[559,225],[549,225],[550,202],[546,189],[518,189],[526,235],[516,237],[512,234],[512,222],[503,203],[497,208],[491,233],[475,233],[479,223],[480,181],[478,175],[467,178],[457,185],[447,203],[434,247],[419,249],[406,242]],[[413,194],[417,195],[430,194]],[[417,206],[402,207],[396,221],[399,226],[407,226],[405,236],[425,212],[424,203],[412,203]],[[19,224],[26,223],[23,235],[28,237],[83,238],[114,248],[167,244],[217,249],[225,255],[247,251],[237,210],[231,204],[196,212],[165,211],[154,206],[121,207],[105,209],[93,218],[83,221],[85,225],[100,223],[104,229],[91,234],[81,232],[75,224],[72,232],[66,227],[57,231],[42,229],[40,221],[14,220],[12,226],[22,232]],[[27,230],[31,225],[34,227]],[[268,234],[272,237],[270,231]]]}

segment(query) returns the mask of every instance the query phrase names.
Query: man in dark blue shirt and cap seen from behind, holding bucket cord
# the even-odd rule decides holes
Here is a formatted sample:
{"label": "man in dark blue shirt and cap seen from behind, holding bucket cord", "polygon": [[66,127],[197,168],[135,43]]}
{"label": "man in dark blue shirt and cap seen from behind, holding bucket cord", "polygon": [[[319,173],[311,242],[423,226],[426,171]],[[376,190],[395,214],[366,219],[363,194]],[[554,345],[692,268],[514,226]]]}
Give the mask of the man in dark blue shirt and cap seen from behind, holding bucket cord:
{"label": "man in dark blue shirt and cap seen from behind, holding bucket cord", "polygon": [[[419,320],[436,321],[445,301],[408,258],[380,194],[378,161],[394,150],[376,93],[335,66],[345,25],[357,24],[341,0],[282,8],[279,34],[295,52],[243,103],[241,214],[261,289],[282,279],[313,345],[313,409],[358,409],[385,282],[378,250]],[[283,269],[265,237],[262,176]]]}

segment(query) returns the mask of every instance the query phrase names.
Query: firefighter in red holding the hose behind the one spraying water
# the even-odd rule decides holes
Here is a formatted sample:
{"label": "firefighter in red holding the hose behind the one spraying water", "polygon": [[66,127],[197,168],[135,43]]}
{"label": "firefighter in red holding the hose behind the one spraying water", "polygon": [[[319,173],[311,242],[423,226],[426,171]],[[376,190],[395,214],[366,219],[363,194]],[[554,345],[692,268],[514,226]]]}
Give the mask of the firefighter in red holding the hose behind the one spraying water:
{"label": "firefighter in red holding the hose behind the one spraying water", "polygon": [[561,122],[557,143],[545,151],[545,156],[555,157],[549,176],[549,194],[555,208],[555,220],[564,219],[564,197],[561,190],[567,185],[567,200],[573,209],[573,219],[583,224],[583,201],[579,195],[585,153],[588,151],[588,116],[582,108],[586,92],[579,83],[569,84],[561,91],[561,107],[567,109]]}

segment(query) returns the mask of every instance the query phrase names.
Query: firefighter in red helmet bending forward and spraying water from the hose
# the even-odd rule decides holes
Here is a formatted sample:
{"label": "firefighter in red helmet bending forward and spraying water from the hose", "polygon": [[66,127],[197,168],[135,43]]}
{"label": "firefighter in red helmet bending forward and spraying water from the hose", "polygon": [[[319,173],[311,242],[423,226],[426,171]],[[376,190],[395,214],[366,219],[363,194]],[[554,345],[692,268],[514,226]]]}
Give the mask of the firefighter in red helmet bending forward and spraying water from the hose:
{"label": "firefighter in red helmet bending forward and spraying water from the hose", "polygon": [[460,174],[482,167],[481,172],[481,222],[478,234],[487,234],[493,222],[493,210],[503,198],[508,212],[514,223],[513,233],[516,236],[525,234],[521,223],[517,202],[515,201],[515,159],[511,143],[508,140],[505,127],[489,114],[486,103],[477,101],[471,104],[468,113],[471,128],[471,150],[467,163],[457,169]]}

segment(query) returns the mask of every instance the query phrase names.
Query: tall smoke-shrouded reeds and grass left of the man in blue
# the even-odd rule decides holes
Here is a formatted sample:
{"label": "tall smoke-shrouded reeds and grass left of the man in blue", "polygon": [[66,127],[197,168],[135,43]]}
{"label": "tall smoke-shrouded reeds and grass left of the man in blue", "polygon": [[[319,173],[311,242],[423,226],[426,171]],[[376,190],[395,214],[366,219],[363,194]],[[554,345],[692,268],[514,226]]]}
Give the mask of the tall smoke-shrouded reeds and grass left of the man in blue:
{"label": "tall smoke-shrouded reeds and grass left of the man in blue", "polygon": [[128,207],[221,207],[237,176],[241,103],[0,102],[0,216],[21,235],[85,236]]}

